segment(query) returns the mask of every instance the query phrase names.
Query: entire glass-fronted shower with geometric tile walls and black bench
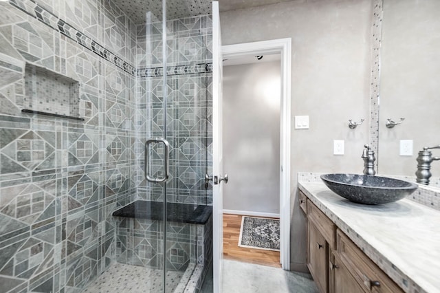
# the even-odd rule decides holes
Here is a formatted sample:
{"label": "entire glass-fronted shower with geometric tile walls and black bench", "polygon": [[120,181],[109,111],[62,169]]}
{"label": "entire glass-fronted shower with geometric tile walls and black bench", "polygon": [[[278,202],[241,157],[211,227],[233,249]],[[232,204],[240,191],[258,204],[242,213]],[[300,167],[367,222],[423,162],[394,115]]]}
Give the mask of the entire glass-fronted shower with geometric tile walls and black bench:
{"label": "entire glass-fronted shower with geometric tile walls and black bench", "polygon": [[0,292],[196,292],[211,1],[0,1]]}

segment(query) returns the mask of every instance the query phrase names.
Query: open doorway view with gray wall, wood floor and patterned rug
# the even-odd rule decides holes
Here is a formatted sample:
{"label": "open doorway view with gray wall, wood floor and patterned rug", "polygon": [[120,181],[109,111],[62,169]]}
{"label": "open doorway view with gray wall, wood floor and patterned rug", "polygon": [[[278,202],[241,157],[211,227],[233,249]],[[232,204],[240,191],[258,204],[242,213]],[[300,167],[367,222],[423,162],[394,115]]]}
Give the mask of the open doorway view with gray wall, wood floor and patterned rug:
{"label": "open doorway view with gray wall, wood floor and patterned rug", "polygon": [[223,58],[223,257],[280,268],[281,54]]}

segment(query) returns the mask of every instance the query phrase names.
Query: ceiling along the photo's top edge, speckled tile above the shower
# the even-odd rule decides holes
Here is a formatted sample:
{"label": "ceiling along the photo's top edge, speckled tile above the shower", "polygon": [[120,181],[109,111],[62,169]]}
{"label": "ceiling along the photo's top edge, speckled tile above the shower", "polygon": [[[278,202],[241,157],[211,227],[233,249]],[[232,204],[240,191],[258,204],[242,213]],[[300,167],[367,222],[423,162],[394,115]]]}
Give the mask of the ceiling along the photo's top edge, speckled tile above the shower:
{"label": "ceiling along the photo's top edge, speckled tile above the shower", "polygon": [[[146,13],[155,15],[153,19],[162,19],[161,0],[113,0],[125,14],[136,24],[146,21]],[[220,12],[265,6],[292,0],[219,0]],[[197,15],[211,14],[212,0],[167,0],[166,18],[182,19]]]}

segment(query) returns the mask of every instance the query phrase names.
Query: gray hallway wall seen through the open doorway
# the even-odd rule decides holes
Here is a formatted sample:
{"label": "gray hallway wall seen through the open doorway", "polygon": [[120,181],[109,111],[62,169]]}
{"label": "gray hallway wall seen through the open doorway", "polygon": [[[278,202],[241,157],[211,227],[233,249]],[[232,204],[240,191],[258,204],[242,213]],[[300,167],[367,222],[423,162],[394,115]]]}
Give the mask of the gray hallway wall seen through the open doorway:
{"label": "gray hallway wall seen through the open doorway", "polygon": [[272,61],[223,67],[226,210],[280,212],[280,66]]}

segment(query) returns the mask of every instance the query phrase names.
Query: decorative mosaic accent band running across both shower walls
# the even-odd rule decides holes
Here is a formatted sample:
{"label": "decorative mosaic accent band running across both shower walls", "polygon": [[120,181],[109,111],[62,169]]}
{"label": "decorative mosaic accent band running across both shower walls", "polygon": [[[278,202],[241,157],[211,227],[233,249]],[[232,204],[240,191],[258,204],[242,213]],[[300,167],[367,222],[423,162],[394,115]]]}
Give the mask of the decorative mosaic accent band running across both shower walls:
{"label": "decorative mosaic accent band running across both shower walls", "polygon": [[[79,30],[74,28],[73,25],[70,25],[63,19],[57,17],[52,12],[45,10],[33,0],[10,0],[9,3],[19,10],[25,12],[26,14],[29,14],[31,17],[38,19],[50,28],[67,36],[69,39],[72,39],[73,41],[87,48],[91,52],[94,52],[98,56],[113,63],[120,69],[124,70],[124,72],[127,72],[137,77],[155,77],[164,75],[162,67],[136,69],[133,65],[124,61],[124,59],[111,52],[111,50],[108,50],[103,45],[97,43],[94,39],[86,36],[85,34],[83,34],[83,32],[80,32]],[[212,72],[212,63],[196,65],[176,65],[166,67],[166,73],[168,76],[197,74],[204,72]]]}

